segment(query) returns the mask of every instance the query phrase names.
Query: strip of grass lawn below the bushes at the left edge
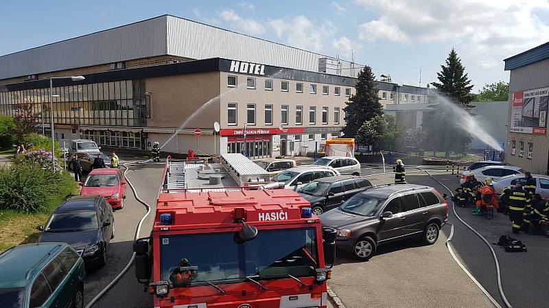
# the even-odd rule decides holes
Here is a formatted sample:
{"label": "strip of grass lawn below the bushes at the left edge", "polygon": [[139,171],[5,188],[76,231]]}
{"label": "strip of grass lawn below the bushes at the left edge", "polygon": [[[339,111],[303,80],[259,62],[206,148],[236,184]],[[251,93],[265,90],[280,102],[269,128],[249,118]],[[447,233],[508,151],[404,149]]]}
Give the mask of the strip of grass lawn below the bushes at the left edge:
{"label": "strip of grass lawn below the bushes at the left edge", "polygon": [[59,186],[58,194],[45,201],[47,207],[44,211],[38,213],[0,211],[0,253],[12,246],[36,242],[40,235],[36,227],[45,224],[47,218],[67,195],[78,194],[80,188],[70,175],[67,175]]}

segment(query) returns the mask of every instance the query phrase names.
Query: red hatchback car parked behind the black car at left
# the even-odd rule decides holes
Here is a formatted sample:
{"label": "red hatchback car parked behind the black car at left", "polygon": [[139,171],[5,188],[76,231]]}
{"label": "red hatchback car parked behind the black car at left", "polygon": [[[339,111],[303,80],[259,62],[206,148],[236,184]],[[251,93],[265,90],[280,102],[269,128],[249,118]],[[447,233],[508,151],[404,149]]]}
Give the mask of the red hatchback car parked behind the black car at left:
{"label": "red hatchback car parked behind the black car at left", "polygon": [[117,168],[93,169],[82,185],[82,196],[104,196],[113,209],[124,207],[126,179]]}

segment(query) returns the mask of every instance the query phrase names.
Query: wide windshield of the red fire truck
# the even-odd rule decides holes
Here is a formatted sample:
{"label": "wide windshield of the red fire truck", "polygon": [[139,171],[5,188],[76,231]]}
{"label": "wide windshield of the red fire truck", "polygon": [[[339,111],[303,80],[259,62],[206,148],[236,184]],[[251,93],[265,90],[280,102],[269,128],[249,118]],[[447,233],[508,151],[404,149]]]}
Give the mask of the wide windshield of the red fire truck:
{"label": "wide windshield of the red fire truck", "polygon": [[[314,228],[261,230],[237,244],[234,232],[160,237],[161,279],[193,286],[204,281],[242,282],[272,277],[311,277],[318,268]],[[276,243],[284,242],[284,245]],[[222,251],[223,253],[220,253]]]}

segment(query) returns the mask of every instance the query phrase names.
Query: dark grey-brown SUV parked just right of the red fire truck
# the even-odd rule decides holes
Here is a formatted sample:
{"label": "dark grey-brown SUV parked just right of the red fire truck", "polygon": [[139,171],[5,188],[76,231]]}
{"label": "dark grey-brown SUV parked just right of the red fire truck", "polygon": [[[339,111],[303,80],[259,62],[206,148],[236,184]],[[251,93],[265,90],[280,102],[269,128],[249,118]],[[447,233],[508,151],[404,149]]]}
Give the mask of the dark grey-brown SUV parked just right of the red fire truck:
{"label": "dark grey-brown SUV parked just right of the red fire truck", "polygon": [[428,186],[374,186],[325,212],[320,220],[323,226],[337,229],[339,248],[367,260],[377,246],[411,236],[434,244],[448,218],[445,198]]}

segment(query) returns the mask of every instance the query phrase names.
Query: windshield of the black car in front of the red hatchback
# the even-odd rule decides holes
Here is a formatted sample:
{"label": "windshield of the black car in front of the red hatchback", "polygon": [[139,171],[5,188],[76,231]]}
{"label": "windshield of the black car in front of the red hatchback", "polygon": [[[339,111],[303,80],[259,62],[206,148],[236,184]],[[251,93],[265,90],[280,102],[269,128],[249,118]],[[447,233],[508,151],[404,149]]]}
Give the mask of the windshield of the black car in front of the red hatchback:
{"label": "windshield of the black car in front of the red hatchback", "polygon": [[97,230],[97,216],[93,211],[54,214],[45,228],[49,232],[88,230]]}

